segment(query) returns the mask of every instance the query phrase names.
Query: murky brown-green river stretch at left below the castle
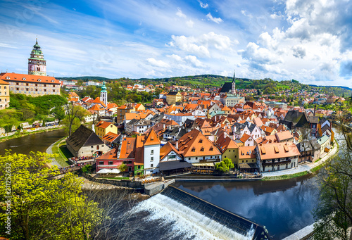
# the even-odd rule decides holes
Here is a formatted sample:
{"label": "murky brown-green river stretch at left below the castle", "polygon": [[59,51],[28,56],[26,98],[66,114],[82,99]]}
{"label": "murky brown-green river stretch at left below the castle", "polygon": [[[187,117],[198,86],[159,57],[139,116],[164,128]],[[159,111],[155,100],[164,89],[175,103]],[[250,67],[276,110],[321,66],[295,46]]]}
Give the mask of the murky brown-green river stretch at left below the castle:
{"label": "murky brown-green river stretch at left below the castle", "polygon": [[54,130],[10,139],[0,143],[0,155],[4,155],[6,149],[11,150],[12,153],[22,154],[28,154],[31,151],[45,152],[51,144],[63,137],[65,137],[64,130]]}

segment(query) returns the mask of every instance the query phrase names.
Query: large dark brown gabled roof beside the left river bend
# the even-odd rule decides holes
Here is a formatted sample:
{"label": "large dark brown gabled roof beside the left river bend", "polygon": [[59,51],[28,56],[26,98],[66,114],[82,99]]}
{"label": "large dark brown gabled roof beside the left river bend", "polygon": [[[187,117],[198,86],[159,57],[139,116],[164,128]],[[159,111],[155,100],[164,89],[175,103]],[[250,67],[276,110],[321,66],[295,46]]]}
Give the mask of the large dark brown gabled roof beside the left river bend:
{"label": "large dark brown gabled roof beside the left river bend", "polygon": [[74,151],[79,151],[82,146],[92,146],[92,145],[103,145],[103,141],[95,134],[92,130],[84,125],[80,127],[71,134],[71,136],[66,140]]}

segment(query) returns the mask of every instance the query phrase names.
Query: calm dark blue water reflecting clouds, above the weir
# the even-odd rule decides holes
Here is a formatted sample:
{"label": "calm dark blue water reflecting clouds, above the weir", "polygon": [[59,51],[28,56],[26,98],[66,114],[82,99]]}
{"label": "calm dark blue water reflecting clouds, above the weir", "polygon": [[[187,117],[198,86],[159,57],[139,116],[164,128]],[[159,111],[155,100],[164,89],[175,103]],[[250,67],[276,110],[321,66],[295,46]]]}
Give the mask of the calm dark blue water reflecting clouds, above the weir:
{"label": "calm dark blue water reflecting clouds, above the weir", "polygon": [[270,182],[179,182],[177,187],[264,225],[274,239],[313,224],[311,211],[318,201],[318,182],[307,176]]}

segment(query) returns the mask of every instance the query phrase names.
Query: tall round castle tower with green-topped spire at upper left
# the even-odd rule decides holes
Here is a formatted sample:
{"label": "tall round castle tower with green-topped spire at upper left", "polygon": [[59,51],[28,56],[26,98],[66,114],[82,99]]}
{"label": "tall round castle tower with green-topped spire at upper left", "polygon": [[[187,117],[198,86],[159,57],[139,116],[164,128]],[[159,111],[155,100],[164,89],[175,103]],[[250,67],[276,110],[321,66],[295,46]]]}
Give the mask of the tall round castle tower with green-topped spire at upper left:
{"label": "tall round castle tower with green-topped spire at upper left", "polygon": [[42,49],[38,45],[38,39],[35,40],[30,58],[28,58],[28,74],[46,76],[46,60],[44,60]]}

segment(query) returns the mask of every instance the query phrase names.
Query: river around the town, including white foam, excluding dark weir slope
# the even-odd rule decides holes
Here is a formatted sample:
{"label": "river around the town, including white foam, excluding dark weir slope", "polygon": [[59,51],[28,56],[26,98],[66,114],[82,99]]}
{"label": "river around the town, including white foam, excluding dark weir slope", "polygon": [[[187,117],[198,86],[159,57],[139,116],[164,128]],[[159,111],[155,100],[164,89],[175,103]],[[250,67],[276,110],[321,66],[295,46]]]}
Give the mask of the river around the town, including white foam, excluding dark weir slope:
{"label": "river around the town, including white foam, excluding dark weir slope", "polygon": [[[11,139],[0,143],[0,154],[6,149],[24,154],[46,151],[62,137],[65,137],[63,130],[57,130]],[[176,186],[267,227],[273,239],[283,239],[311,225],[312,210],[318,203],[318,177],[312,175],[268,182],[179,182]],[[133,211],[146,212],[146,218],[139,224],[158,226],[153,229],[158,231],[158,239],[170,239],[170,236],[172,239],[223,239],[220,236],[228,234],[216,222],[161,194],[142,201]]]}

